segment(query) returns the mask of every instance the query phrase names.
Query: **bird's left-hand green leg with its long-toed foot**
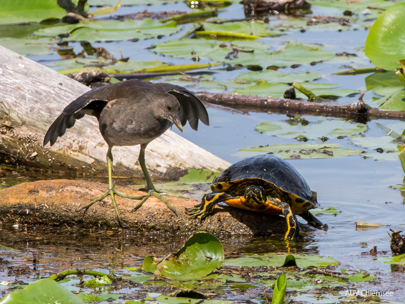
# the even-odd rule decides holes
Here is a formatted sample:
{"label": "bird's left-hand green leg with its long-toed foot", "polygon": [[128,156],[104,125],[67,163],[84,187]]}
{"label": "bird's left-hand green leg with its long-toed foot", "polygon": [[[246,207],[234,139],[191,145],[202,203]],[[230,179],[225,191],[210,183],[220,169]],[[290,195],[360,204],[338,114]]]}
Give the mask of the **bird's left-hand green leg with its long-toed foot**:
{"label": "bird's left-hand green leg with its long-toed foot", "polygon": [[141,200],[144,198],[144,196],[130,196],[129,194],[124,194],[121,193],[117,190],[114,189],[114,183],[113,183],[113,154],[111,153],[111,148],[109,146],[108,151],[107,151],[107,167],[108,167],[108,190],[105,191],[101,196],[99,196],[98,198],[96,198],[95,200],[91,201],[89,204],[87,204],[86,206],[84,206],[83,209],[84,213],[86,213],[87,210],[89,210],[89,208],[99,202],[102,201],[103,199],[105,199],[108,196],[111,196],[111,202],[113,204],[114,207],[114,211],[115,214],[117,216],[117,221],[119,226],[122,228],[122,222],[121,222],[121,218],[119,216],[119,212],[118,212],[118,207],[117,207],[117,203],[115,202],[115,197],[114,194],[116,194],[119,197],[123,197],[123,198],[127,198],[127,199],[134,199],[134,200]]}

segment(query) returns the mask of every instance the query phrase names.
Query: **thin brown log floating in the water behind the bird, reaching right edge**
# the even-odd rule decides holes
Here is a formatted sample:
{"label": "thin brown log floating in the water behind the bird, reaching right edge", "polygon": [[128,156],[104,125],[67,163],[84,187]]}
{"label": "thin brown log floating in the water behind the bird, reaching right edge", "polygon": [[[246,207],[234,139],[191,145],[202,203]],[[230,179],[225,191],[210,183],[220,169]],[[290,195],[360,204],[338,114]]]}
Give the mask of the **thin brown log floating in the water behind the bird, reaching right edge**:
{"label": "thin brown log floating in the water behind the bird, reaching right edge", "polygon": [[305,114],[368,121],[372,119],[402,119],[405,111],[382,110],[363,101],[362,93],[356,102],[338,104],[332,102],[310,102],[304,100],[248,96],[239,94],[195,93],[205,102],[248,111],[274,112],[281,114]]}

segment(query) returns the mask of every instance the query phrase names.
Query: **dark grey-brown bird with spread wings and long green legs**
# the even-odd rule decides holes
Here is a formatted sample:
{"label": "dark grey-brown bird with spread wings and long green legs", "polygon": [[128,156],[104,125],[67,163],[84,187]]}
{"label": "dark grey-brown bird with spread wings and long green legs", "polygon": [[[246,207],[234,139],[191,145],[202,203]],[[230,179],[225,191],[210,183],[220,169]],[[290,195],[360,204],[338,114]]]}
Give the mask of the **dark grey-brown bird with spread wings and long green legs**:
{"label": "dark grey-brown bird with spread wings and long green legs", "polygon": [[[92,115],[98,119],[101,135],[108,144],[107,165],[109,188],[89,204],[83,207],[85,212],[94,203],[111,196],[118,224],[122,227],[114,194],[120,197],[140,200],[132,210],[135,211],[150,197],[154,196],[167,205],[174,213],[176,209],[161,193],[156,191],[145,164],[145,148],[155,138],[161,136],[172,124],[180,131],[187,120],[197,131],[198,121],[208,125],[207,111],[196,96],[185,88],[169,83],[151,83],[132,79],[91,90],[73,100],[49,127],[44,138],[44,146],[51,146],[58,137],[71,128],[76,119],[84,115]],[[147,183],[147,194],[130,196],[114,189],[112,179],[113,146],[141,145],[139,164]],[[166,194],[169,195],[170,194]],[[176,213],[177,214],[177,213]]]}

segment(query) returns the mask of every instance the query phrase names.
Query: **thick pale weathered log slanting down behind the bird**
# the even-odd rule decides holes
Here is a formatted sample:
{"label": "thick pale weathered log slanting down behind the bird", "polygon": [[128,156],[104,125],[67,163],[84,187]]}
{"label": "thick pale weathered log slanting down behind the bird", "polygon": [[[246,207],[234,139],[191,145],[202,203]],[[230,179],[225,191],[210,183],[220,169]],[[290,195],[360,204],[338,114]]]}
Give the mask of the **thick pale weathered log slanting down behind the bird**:
{"label": "thick pale weathered log slanting down behind the bird", "polygon": [[[90,90],[87,86],[1,46],[0,75],[0,161],[106,172],[107,145],[94,117],[77,121],[51,148],[42,147],[50,124],[67,104]],[[116,175],[143,177],[139,146],[114,147],[113,154]],[[160,178],[178,178],[188,168],[221,171],[229,166],[170,130],[147,146],[146,162],[151,175]]]}

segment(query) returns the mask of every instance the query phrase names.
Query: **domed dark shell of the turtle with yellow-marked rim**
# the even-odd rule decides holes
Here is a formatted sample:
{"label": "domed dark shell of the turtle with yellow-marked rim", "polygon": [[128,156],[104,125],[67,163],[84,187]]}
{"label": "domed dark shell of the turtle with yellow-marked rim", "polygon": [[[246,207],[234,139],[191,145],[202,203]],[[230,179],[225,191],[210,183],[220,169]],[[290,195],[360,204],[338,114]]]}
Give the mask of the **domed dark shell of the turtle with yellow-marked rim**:
{"label": "domed dark shell of the turtle with yellow-marked rim", "polygon": [[318,206],[316,192],[311,191],[301,174],[272,155],[253,156],[231,165],[214,180],[211,190],[243,197],[249,185],[262,186],[268,198],[286,202],[295,214]]}

